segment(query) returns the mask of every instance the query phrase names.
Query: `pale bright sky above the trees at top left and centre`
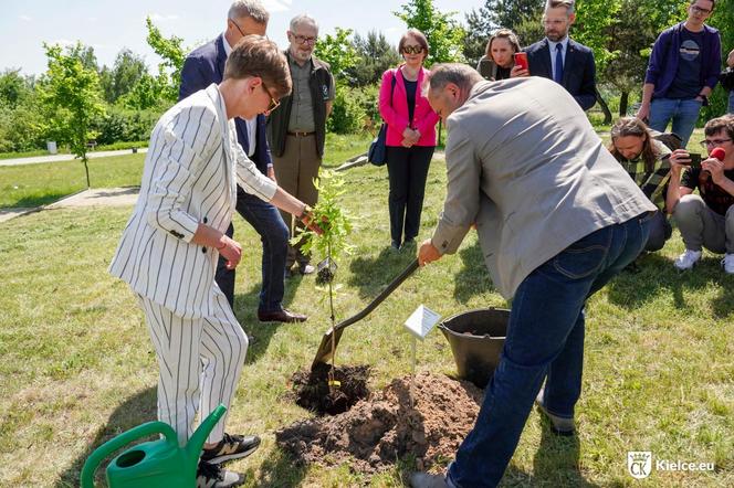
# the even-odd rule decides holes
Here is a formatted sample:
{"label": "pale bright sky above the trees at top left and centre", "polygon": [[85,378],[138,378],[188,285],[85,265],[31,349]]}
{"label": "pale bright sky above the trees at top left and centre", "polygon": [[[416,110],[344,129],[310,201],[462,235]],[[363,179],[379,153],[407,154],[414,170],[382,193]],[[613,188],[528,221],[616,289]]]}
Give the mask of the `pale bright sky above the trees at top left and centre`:
{"label": "pale bright sky above the trees at top left and centre", "polygon": [[[290,20],[303,12],[316,19],[321,34],[334,33],[337,26],[361,35],[377,30],[397,44],[406,29],[392,12],[407,0],[262,2],[271,13],[268,35],[281,46],[287,44]],[[193,47],[224,30],[230,4],[231,0],[0,0],[0,72],[20,68],[25,75],[41,74],[46,70],[43,42],[76,41],[94,47],[99,66],[112,66],[117,53],[127,47],[143,55],[154,72],[160,60],[145,41],[147,15],[166,38],[178,35],[186,47]],[[483,4],[483,0],[434,0],[440,11],[459,12],[454,19],[461,22],[466,12]]]}

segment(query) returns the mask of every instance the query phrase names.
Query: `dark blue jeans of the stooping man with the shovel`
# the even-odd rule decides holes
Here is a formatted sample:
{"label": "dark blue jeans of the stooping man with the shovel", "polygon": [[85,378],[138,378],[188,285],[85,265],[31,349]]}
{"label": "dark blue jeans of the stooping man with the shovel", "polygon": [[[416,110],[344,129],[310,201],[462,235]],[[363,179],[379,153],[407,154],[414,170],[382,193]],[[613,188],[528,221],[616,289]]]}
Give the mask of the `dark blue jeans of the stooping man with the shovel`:
{"label": "dark blue jeans of the stooping man with the shovel", "polygon": [[573,418],[581,393],[584,304],[637,258],[652,215],[646,213],[580,238],[517,287],[500,364],[474,428],[449,467],[447,480],[454,487],[500,482],[543,380],[548,412]]}

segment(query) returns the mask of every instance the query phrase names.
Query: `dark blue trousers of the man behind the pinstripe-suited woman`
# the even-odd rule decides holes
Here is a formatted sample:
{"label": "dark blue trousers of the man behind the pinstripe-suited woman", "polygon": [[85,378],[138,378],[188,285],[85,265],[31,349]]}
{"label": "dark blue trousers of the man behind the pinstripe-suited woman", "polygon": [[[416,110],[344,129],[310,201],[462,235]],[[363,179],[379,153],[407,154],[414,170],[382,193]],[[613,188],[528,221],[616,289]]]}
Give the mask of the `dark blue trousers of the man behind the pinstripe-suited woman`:
{"label": "dark blue trousers of the man behind the pinstripe-suited woman", "polygon": [[[276,311],[282,308],[285,256],[287,254],[289,227],[275,206],[237,188],[237,212],[260,234],[262,241],[262,288],[259,311]],[[232,236],[230,224],[227,235]],[[245,250],[242,250],[247,252]],[[230,306],[234,306],[234,269],[227,269],[227,261],[219,256],[214,280]]]}

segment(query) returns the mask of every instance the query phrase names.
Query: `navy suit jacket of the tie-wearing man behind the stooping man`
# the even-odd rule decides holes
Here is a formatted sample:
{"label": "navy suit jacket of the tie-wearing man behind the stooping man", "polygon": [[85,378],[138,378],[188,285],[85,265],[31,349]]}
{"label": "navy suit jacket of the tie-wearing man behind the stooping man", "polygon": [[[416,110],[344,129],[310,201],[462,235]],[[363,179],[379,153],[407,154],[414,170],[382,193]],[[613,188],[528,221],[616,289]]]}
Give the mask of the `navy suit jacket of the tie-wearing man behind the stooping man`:
{"label": "navy suit jacket of the tie-wearing man behind the stooping man", "polygon": [[[524,51],[527,53],[531,76],[543,76],[553,79],[548,39],[528,45]],[[584,110],[588,110],[596,104],[594,51],[573,39],[568,40],[562,85]]]}

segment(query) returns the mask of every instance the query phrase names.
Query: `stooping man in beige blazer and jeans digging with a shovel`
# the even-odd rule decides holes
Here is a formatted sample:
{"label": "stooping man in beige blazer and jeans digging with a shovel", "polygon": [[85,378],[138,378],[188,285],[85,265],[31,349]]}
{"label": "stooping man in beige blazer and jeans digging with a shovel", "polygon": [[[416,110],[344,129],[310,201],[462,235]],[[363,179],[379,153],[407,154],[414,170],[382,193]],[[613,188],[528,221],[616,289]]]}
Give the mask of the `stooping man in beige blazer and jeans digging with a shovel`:
{"label": "stooping man in beige blazer and jeans digging with a shovel", "polygon": [[469,66],[443,64],[431,68],[424,89],[448,128],[448,191],[418,259],[454,253],[476,224],[492,279],[513,305],[474,428],[445,478],[421,473],[411,482],[494,487],[536,395],[554,432],[574,434],[584,305],[638,256],[656,206],[560,85],[485,82]]}

